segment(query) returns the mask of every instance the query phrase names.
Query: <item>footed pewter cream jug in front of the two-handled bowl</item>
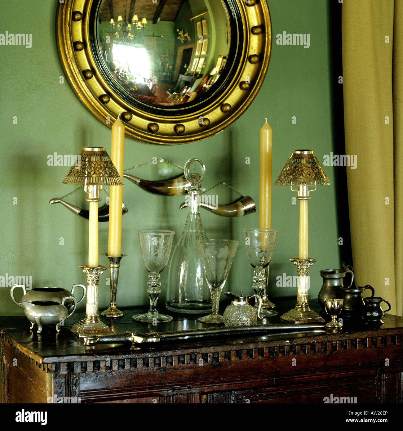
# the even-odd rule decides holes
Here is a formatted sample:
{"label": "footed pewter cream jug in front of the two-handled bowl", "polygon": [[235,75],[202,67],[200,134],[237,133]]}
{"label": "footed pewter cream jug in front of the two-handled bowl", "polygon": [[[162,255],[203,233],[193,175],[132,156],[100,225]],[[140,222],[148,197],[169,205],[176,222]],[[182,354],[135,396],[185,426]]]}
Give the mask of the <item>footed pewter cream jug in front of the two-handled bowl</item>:
{"label": "footed pewter cream jug in front of the two-handled bowl", "polygon": [[[64,304],[71,301],[73,305],[67,309]],[[40,334],[43,326],[52,325],[56,325],[56,331],[60,332],[60,326],[64,325],[65,320],[74,313],[77,301],[74,297],[71,297],[63,298],[61,304],[55,301],[34,301],[32,303],[20,301],[18,305],[24,308],[25,316],[31,322],[30,329],[37,324],[37,334]]]}

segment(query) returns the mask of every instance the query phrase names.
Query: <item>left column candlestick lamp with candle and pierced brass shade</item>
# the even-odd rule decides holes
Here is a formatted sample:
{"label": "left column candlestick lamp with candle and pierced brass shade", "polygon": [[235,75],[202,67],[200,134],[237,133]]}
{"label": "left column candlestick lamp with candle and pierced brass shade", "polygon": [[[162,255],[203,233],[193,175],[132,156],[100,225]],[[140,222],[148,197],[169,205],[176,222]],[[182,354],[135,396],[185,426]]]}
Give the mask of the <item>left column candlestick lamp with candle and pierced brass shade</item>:
{"label": "left column candlestick lamp with candle and pierced brass shade", "polygon": [[[91,204],[96,204],[95,211],[90,209],[90,223],[93,223],[95,233],[96,262],[98,260],[98,202],[101,200],[99,191],[103,185],[122,185],[123,181],[112,163],[108,153],[103,147],[84,147],[80,154],[80,164],[71,166],[68,174],[63,180],[63,184],[84,185],[84,191],[88,193],[86,200]],[[90,253],[89,253],[90,259]],[[70,331],[80,338],[88,335],[103,335],[113,331],[99,319],[98,311],[98,285],[99,276],[105,271],[102,265],[80,265],[80,268],[87,275],[87,307],[86,316],[80,322],[71,326]]]}

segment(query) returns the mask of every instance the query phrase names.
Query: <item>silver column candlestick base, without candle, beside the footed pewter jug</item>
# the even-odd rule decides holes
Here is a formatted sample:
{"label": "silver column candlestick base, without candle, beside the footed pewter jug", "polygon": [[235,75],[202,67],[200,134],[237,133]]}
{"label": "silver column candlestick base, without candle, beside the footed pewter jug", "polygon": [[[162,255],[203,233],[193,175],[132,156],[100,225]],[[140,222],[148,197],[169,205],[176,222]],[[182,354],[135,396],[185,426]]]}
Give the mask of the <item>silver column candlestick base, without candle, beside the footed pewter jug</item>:
{"label": "silver column candlestick base, without candle, beside the footed pewter jug", "polygon": [[112,329],[99,319],[98,311],[98,285],[99,276],[105,271],[106,266],[90,267],[80,265],[87,275],[87,307],[86,316],[80,322],[74,323],[70,331],[80,338],[113,333]]}

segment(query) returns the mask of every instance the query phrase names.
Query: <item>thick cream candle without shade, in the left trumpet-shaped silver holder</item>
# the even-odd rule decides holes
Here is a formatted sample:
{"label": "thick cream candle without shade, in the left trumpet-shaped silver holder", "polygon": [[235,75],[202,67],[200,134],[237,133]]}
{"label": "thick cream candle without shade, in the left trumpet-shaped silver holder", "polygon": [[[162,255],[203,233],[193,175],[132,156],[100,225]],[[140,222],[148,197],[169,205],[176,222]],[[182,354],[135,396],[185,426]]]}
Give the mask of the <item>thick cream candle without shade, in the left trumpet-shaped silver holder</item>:
{"label": "thick cream candle without shade, in the left trumpet-shaped silver holder", "polygon": [[[112,126],[111,159],[123,180],[124,125],[117,119]],[[109,194],[109,256],[121,256],[123,186],[111,186]]]}

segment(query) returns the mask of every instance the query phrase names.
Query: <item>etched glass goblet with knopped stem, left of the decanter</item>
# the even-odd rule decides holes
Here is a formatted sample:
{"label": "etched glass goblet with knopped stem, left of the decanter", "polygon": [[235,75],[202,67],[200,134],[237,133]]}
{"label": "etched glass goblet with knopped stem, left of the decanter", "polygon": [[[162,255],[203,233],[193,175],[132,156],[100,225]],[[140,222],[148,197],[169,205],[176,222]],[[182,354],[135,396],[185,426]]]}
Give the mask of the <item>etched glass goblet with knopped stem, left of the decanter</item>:
{"label": "etched glass goblet with knopped stem, left of the decanter", "polygon": [[149,272],[148,294],[150,310],[148,313],[134,315],[133,320],[144,323],[171,322],[172,317],[157,311],[157,300],[161,293],[160,272],[167,266],[171,254],[174,231],[141,230],[138,231],[140,251],[144,268]]}

